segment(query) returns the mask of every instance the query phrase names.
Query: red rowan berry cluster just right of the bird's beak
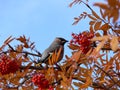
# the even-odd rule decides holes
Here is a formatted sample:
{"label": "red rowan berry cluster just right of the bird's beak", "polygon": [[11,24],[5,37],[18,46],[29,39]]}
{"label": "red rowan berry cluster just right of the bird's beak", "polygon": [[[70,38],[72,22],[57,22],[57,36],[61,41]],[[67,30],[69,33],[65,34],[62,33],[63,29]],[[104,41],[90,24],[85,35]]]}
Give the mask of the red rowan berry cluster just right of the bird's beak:
{"label": "red rowan berry cluster just right of the bird's beak", "polygon": [[86,54],[91,48],[91,39],[94,37],[94,33],[84,31],[82,33],[76,34],[72,33],[72,40],[70,43],[80,46],[80,50]]}

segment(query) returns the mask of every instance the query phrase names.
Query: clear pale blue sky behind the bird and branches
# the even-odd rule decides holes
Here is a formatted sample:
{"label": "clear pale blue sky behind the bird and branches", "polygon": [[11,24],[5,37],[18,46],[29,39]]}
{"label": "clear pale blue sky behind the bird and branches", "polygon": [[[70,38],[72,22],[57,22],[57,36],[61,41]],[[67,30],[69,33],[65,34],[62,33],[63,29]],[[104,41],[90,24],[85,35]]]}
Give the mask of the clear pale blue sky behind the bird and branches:
{"label": "clear pale blue sky behind the bird and branches", "polygon": [[[91,5],[93,1],[90,0]],[[0,44],[9,36],[26,35],[43,52],[55,37],[71,39],[71,33],[89,29],[89,20],[73,26],[75,16],[90,12],[85,5],[69,4],[72,0],[0,0]],[[97,9],[96,9],[97,10]],[[66,53],[70,53],[66,47]]]}

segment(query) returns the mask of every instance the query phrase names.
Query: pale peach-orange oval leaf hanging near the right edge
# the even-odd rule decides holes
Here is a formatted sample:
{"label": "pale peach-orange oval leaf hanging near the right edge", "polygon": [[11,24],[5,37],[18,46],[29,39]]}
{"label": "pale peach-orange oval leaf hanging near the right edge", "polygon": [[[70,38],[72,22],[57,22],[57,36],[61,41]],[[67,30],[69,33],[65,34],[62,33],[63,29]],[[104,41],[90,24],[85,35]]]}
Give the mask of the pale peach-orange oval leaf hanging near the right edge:
{"label": "pale peach-orange oval leaf hanging near the right edge", "polygon": [[111,46],[111,49],[113,51],[116,51],[119,48],[118,37],[116,37],[116,36],[112,37],[112,40],[110,42],[110,46]]}

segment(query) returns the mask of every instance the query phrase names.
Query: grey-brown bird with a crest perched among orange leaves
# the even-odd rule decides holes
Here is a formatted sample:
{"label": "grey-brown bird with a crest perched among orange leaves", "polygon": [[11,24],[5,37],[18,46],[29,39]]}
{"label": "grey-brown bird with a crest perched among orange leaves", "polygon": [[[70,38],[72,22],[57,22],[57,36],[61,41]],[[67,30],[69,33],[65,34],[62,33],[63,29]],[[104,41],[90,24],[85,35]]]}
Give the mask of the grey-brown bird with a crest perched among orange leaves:
{"label": "grey-brown bird with a crest perched among orange leaves", "polygon": [[50,44],[50,46],[45,49],[45,51],[42,53],[42,56],[40,60],[38,60],[38,63],[47,63],[48,64],[48,58],[51,57],[52,53],[58,52],[61,48],[60,55],[58,57],[58,62],[63,58],[64,55],[64,45],[68,42],[66,39],[62,37],[56,37],[54,41]]}

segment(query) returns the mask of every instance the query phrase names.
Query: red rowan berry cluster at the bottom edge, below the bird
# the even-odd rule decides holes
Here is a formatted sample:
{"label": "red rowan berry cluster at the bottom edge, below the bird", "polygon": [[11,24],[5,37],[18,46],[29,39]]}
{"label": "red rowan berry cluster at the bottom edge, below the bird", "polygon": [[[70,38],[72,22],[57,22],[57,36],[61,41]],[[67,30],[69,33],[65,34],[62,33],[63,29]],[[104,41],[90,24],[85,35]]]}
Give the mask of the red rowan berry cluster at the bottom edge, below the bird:
{"label": "red rowan berry cluster at the bottom edge, below the bird", "polygon": [[44,89],[53,90],[51,85],[49,85],[49,81],[45,78],[44,74],[41,73],[35,74],[32,77],[32,82],[39,87],[38,90],[44,90]]}

